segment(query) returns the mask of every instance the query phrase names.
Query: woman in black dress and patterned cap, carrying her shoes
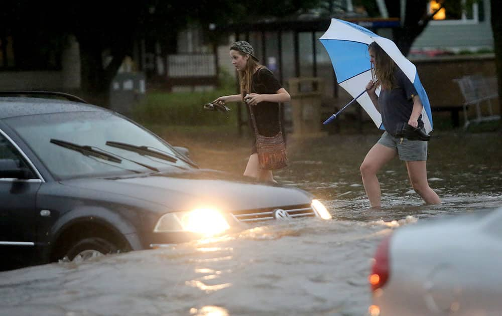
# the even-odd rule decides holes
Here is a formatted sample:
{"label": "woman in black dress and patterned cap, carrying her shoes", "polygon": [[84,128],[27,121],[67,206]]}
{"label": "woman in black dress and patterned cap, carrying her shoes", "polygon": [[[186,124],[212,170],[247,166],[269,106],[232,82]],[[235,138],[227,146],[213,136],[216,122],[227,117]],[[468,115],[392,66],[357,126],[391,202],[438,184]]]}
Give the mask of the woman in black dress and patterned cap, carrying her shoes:
{"label": "woman in black dress and patterned cap, carrying her shoes", "polygon": [[[276,135],[280,131],[279,103],[291,100],[288,91],[272,71],[259,63],[253,47],[246,41],[237,41],[230,46],[230,58],[239,76],[240,94],[221,96],[213,102],[246,103],[255,114],[258,132],[264,136]],[[253,125],[252,120],[250,123]],[[255,130],[255,126],[252,126],[252,130]],[[271,170],[260,168],[256,142],[244,176],[275,182]]]}

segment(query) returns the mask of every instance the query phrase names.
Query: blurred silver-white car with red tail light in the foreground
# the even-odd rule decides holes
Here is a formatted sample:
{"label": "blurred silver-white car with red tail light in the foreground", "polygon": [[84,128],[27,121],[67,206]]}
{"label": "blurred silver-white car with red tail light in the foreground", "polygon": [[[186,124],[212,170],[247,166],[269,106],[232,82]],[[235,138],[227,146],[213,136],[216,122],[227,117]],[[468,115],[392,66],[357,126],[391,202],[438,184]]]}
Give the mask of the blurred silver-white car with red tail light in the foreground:
{"label": "blurred silver-white car with red tail light in the foreground", "polygon": [[502,315],[502,208],[398,228],[376,250],[372,316]]}

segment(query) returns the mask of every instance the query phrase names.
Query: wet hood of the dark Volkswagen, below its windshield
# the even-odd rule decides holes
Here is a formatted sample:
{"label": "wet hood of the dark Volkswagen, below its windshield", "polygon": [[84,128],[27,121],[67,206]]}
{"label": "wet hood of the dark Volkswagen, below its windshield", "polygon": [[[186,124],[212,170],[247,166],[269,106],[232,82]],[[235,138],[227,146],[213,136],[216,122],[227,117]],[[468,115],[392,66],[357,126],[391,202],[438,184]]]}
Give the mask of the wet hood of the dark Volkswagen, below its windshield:
{"label": "wet hood of the dark Volkswagen, below its windshield", "polygon": [[[61,182],[79,190],[120,196],[156,203],[164,211],[186,211],[200,207],[216,207],[235,211],[290,205],[310,204],[312,195],[306,191],[254,182],[248,178],[210,170],[191,170],[180,173],[158,173],[148,176],[93,178]],[[111,198],[111,197],[110,197]],[[140,203],[141,204],[141,203]]]}

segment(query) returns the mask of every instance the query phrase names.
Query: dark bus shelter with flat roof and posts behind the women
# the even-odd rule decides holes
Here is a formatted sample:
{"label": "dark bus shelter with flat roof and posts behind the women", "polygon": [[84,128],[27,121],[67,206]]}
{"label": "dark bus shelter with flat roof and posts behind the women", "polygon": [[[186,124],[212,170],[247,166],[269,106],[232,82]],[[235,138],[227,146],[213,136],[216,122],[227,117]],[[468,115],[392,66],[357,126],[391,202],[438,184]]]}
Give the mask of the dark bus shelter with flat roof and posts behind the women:
{"label": "dark bus shelter with flat roof and posts behind the women", "polygon": [[[392,29],[400,26],[397,18],[337,18],[391,38]],[[251,43],[257,58],[276,74],[281,83],[285,84],[291,78],[319,77],[324,81],[325,95],[336,99],[340,94],[336,77],[329,56],[318,40],[330,23],[331,18],[269,19],[230,24],[217,27],[215,31],[220,34],[233,34],[235,41],[244,40]],[[311,85],[306,85],[305,89],[309,86]],[[335,109],[334,107],[333,110]],[[360,111],[358,113],[360,122],[362,113]],[[242,107],[239,106],[237,113],[239,134],[242,133],[241,126],[247,124],[242,114]],[[284,111],[282,114],[284,119]]]}

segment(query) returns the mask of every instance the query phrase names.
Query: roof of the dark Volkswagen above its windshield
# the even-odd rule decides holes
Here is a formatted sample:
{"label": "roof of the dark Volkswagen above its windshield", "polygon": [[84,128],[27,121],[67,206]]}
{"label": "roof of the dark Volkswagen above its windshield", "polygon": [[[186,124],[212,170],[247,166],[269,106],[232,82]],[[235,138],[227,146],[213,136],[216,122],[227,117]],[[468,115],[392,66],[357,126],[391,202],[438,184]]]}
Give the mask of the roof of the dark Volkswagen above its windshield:
{"label": "roof of the dark Volkswagen above its windshield", "polygon": [[0,119],[62,112],[106,111],[104,108],[55,98],[40,97],[0,97]]}

